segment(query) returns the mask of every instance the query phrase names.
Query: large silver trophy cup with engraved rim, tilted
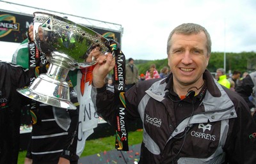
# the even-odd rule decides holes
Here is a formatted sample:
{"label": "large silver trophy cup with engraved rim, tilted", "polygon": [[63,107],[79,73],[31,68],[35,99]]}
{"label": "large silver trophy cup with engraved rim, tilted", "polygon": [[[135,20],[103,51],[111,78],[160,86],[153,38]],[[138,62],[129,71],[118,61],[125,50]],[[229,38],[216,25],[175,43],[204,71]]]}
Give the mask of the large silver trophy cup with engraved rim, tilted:
{"label": "large silver trophy cup with engraved rim, tilted", "polygon": [[75,110],[70,101],[66,78],[69,70],[86,68],[96,64],[88,61],[90,51],[100,47],[105,54],[107,39],[88,27],[49,13],[34,13],[34,40],[50,63],[47,73],[42,73],[29,87],[17,91],[33,100],[54,107]]}

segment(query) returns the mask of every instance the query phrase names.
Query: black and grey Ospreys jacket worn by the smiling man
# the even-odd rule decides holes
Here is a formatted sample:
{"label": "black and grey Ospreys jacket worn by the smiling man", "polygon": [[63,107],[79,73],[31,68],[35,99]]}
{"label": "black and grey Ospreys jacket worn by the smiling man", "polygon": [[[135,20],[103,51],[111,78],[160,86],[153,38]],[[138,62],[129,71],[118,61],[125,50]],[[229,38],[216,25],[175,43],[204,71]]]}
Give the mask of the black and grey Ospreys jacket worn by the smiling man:
{"label": "black and grey Ospreys jacket worn by the smiling man", "polygon": [[[141,117],[140,163],[256,163],[256,124],[246,102],[209,71],[193,97],[180,100],[168,78],[142,81],[125,93],[127,117]],[[114,124],[113,93],[93,88],[97,112]]]}

